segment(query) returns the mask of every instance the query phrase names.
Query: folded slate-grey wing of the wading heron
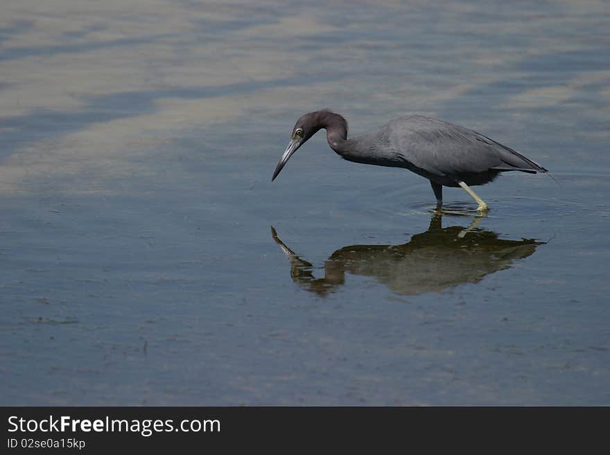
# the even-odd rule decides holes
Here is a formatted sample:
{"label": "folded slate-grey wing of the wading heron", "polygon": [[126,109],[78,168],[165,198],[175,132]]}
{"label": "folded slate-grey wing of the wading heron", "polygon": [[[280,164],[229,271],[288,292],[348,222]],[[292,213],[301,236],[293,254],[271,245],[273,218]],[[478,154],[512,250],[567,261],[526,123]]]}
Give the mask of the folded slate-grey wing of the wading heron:
{"label": "folded slate-grey wing of the wading heron", "polygon": [[386,134],[395,154],[435,175],[488,170],[546,172],[542,166],[487,136],[424,116],[397,118]]}

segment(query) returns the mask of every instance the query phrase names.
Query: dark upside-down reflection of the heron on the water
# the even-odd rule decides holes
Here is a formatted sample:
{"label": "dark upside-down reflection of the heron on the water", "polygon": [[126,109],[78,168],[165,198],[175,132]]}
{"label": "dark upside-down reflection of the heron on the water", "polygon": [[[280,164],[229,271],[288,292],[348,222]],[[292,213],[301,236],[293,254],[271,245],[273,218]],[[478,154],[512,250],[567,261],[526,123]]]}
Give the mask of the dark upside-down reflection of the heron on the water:
{"label": "dark upside-down reflection of the heron on the water", "polygon": [[462,283],[478,283],[495,271],[508,269],[527,258],[546,242],[533,239],[504,240],[477,226],[442,227],[442,215],[430,220],[428,230],[401,245],[350,245],[335,251],[324,262],[324,278],[315,278],[315,267],[280,240],[271,226],[272,238],[290,260],[293,281],[310,292],[325,296],[345,285],[345,273],[372,276],[402,295],[441,292]]}

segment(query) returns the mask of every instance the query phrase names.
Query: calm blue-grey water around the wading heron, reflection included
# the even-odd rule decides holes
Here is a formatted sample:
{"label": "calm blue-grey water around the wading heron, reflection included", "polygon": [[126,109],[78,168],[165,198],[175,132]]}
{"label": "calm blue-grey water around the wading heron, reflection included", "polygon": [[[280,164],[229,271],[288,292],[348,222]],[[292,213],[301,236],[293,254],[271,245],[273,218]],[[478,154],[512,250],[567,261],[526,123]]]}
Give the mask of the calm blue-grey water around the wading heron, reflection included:
{"label": "calm blue-grey water around the wading heron, reflection included", "polygon": [[[0,6],[1,404],[610,404],[596,1]],[[295,120],[471,127],[459,188]]]}

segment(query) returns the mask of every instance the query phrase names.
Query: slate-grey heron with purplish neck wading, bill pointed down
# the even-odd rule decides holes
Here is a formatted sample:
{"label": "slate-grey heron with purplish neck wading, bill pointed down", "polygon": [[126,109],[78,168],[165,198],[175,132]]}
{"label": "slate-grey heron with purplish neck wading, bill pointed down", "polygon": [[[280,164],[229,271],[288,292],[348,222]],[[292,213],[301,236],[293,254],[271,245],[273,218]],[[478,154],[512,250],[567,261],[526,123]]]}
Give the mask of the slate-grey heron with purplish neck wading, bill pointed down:
{"label": "slate-grey heron with purplish neck wading, bill pointed down", "polygon": [[461,186],[476,200],[478,211],[487,211],[485,201],[470,186],[487,184],[500,172],[510,170],[547,172],[538,163],[487,136],[420,115],[394,118],[373,132],[347,139],[345,118],[324,109],[299,118],[271,181],[299,147],[322,128],[331,148],[347,161],[406,168],[429,179],[438,207],[443,202],[443,186]]}

